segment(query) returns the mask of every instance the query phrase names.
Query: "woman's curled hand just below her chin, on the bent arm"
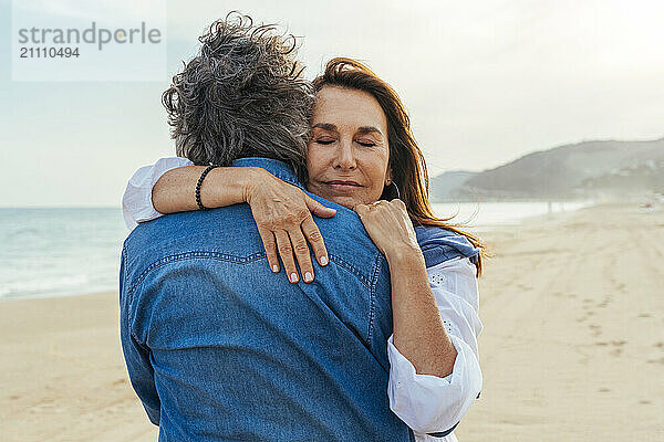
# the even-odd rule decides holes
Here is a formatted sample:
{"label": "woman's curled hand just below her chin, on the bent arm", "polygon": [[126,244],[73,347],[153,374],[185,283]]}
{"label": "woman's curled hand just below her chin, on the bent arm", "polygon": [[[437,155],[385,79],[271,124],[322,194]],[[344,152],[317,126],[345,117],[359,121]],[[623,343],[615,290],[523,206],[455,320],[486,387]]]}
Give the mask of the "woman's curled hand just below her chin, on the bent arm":
{"label": "woman's curled hand just below her chin, on the bent arm", "polygon": [[354,208],[366,232],[390,261],[408,253],[422,253],[406,204],[402,200],[376,201]]}

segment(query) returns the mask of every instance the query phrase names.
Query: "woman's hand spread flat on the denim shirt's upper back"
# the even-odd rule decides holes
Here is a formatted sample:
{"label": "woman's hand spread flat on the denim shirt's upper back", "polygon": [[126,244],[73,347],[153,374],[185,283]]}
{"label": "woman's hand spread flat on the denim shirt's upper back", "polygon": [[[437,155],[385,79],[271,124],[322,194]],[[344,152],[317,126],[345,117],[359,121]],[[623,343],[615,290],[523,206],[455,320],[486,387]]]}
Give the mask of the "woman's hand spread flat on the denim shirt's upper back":
{"label": "woman's hand spread flat on the denim shirt's upper back", "polygon": [[324,207],[298,187],[280,180],[270,172],[261,173],[260,177],[247,187],[245,200],[251,207],[270,269],[272,272],[279,272],[279,251],[289,281],[299,281],[294,262],[297,259],[304,282],[310,283],[314,274],[307,241],[311,244],[319,264],[326,265],[329,262],[323,236],[311,213],[331,218],[336,210]]}

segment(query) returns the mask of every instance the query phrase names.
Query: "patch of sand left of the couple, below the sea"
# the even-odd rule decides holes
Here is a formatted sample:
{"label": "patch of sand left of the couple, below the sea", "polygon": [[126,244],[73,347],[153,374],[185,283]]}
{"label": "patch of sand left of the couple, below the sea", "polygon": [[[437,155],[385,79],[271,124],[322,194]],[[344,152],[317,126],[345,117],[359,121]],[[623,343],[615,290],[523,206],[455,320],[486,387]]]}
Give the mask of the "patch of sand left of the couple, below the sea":
{"label": "patch of sand left of the couple, below the sea", "polygon": [[156,441],[117,305],[115,293],[0,303],[0,441]]}

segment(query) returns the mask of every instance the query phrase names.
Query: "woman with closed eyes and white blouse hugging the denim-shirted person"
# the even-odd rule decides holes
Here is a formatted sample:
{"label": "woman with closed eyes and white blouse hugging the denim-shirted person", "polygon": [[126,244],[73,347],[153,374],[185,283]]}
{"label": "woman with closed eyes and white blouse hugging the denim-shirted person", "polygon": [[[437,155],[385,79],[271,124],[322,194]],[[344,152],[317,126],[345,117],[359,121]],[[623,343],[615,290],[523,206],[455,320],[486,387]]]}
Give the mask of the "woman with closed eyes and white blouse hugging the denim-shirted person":
{"label": "woman with closed eyes and white blouse hugging the denim-shirted person", "polygon": [[[424,158],[398,96],[385,82],[359,62],[334,59],[313,85],[307,188],[340,210],[354,210],[390,264],[391,408],[416,440],[434,433],[456,441],[452,430],[481,388],[476,275],[484,245],[433,214]],[[128,222],[196,210],[194,189],[206,167],[190,165],[167,158],[137,171],[123,199]],[[272,271],[280,271],[281,257],[289,281],[298,283],[297,260],[310,283],[314,273],[307,241],[319,264],[328,263],[311,212],[332,217],[335,210],[263,169],[211,169],[200,202],[207,208],[248,202]],[[391,197],[397,199],[387,201]],[[421,249],[425,241],[427,248]]]}

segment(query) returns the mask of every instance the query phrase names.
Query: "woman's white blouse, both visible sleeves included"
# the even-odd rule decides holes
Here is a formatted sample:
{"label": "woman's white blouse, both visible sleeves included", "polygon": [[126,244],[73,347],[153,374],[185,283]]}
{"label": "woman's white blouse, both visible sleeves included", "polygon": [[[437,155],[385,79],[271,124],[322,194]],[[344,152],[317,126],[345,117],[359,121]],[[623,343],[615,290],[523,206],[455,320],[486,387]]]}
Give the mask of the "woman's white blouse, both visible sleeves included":
{"label": "woman's white blouse, both visible sleeves included", "polygon": [[[152,203],[152,190],[170,169],[191,166],[186,158],[162,158],[138,169],[129,179],[122,199],[125,223],[133,230],[138,222],[162,217]],[[450,375],[440,378],[419,375],[415,367],[387,339],[390,408],[415,433],[416,441],[457,442],[454,431],[444,438],[427,433],[444,432],[466,414],[483,386],[477,337],[484,326],[479,319],[479,292],[475,264],[458,256],[428,267],[429,285],[440,318],[457,357]]]}

